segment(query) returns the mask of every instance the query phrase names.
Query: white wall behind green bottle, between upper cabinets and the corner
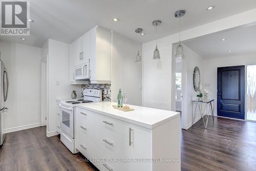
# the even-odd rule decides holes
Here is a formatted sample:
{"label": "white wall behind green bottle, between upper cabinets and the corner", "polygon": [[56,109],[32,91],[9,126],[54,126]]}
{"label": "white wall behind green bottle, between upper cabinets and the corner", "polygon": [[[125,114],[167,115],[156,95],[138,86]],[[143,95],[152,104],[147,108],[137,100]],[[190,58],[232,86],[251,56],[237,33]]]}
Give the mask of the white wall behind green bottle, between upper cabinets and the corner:
{"label": "white wall behind green bottle, between upper cabinets and the corner", "polygon": [[111,99],[117,101],[119,88],[128,96],[127,103],[142,105],[142,63],[135,62],[142,45],[113,32]]}

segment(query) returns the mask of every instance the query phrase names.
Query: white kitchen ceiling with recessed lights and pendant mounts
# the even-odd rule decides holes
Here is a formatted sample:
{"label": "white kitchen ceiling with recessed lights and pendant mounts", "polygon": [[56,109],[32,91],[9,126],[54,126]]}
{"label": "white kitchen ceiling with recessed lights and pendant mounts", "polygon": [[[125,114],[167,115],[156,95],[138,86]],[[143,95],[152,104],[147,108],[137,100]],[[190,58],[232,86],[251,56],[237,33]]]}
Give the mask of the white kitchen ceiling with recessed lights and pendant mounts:
{"label": "white kitchen ceiling with recessed lights and pendant mounts", "polygon": [[[213,10],[206,11],[209,5]],[[0,40],[14,41],[41,47],[50,38],[72,42],[96,25],[114,30],[138,42],[154,40],[152,21],[162,20],[158,36],[164,37],[179,31],[175,11],[186,10],[181,18],[181,30],[186,30],[233,14],[256,8],[255,0],[31,0],[30,36],[23,41],[20,36],[0,36]],[[112,18],[120,20],[114,23]],[[144,36],[135,33],[142,28]]]}

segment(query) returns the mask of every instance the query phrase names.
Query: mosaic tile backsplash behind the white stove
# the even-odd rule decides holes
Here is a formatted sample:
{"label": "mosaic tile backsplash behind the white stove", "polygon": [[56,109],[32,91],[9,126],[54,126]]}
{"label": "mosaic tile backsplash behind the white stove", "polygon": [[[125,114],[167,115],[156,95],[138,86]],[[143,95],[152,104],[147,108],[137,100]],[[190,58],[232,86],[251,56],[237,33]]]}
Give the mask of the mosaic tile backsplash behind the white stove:
{"label": "mosaic tile backsplash behind the white stove", "polygon": [[81,86],[81,95],[83,97],[84,89],[102,90],[102,101],[111,101],[111,84],[85,84]]}

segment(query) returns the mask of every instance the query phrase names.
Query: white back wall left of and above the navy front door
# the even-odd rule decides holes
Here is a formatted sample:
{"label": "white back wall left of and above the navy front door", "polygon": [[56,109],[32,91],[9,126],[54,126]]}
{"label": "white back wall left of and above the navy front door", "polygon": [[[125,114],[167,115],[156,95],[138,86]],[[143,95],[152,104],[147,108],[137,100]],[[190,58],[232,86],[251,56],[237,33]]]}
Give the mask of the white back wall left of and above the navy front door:
{"label": "white back wall left of and above the navy front door", "polygon": [[256,65],[256,54],[233,56],[233,57],[217,57],[204,60],[205,83],[209,83],[209,98],[215,99],[215,115],[217,116],[217,68],[241,65]]}

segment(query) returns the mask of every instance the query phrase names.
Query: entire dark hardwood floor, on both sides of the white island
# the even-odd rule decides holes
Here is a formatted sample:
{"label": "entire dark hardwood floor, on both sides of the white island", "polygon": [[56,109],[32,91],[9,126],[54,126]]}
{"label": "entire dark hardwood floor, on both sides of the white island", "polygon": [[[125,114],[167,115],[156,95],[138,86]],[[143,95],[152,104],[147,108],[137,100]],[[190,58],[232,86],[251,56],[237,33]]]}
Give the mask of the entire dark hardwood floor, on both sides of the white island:
{"label": "entire dark hardwood floor, on both sides of the white island", "polygon": [[[9,133],[0,148],[0,170],[93,170],[45,127]],[[209,118],[181,131],[182,170],[256,170],[256,123]],[[135,171],[135,170],[132,170]],[[137,171],[137,170],[136,170]],[[146,171],[146,170],[145,170]]]}

